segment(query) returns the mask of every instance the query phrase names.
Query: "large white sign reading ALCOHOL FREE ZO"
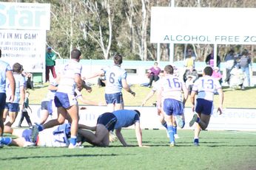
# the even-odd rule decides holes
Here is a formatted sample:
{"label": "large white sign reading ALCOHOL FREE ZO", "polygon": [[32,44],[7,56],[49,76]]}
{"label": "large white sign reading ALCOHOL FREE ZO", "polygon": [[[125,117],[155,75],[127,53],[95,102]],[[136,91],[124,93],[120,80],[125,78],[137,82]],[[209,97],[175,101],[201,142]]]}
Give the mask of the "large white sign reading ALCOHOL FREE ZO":
{"label": "large white sign reading ALCOHOL FREE ZO", "polygon": [[256,44],[256,8],[152,7],[151,43]]}

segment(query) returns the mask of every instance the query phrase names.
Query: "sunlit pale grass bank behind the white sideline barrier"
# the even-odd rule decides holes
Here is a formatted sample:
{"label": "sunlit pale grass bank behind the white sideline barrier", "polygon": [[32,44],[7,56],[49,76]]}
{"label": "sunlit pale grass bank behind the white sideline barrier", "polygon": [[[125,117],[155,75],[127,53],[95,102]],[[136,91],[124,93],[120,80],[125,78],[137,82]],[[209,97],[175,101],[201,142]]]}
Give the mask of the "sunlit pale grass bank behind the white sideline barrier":
{"label": "sunlit pale grass bank behind the white sideline barrier", "polygon": [[[44,84],[43,88],[35,88],[34,91],[30,91],[30,103],[40,104],[41,100],[44,99],[47,93],[47,85]],[[140,106],[147,93],[151,91],[151,88],[141,87],[139,85],[132,85],[132,91],[135,91],[136,96],[133,97],[127,91],[123,91],[124,104],[127,106]],[[223,107],[236,107],[236,108],[256,108],[256,88],[246,88],[246,90],[236,90],[232,91],[229,88],[223,88],[224,91],[224,103]],[[92,93],[87,93],[83,91],[83,96],[95,102],[104,102],[104,88],[98,88],[97,86],[92,86]],[[152,106],[155,102],[156,95],[146,102],[146,106]],[[218,95],[215,95],[215,105],[218,105]],[[190,99],[186,102],[186,107],[190,107]]]}

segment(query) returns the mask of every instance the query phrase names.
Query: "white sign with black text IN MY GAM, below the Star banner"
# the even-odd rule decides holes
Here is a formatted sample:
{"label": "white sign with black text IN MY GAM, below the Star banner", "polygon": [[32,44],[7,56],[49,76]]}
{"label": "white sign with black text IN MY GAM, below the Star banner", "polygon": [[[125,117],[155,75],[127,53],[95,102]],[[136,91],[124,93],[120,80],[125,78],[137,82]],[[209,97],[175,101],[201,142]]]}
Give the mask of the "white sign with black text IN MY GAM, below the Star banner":
{"label": "white sign with black text IN MY GAM, below the Star banner", "polygon": [[25,71],[43,72],[45,30],[0,29],[1,59],[12,67],[21,63]]}

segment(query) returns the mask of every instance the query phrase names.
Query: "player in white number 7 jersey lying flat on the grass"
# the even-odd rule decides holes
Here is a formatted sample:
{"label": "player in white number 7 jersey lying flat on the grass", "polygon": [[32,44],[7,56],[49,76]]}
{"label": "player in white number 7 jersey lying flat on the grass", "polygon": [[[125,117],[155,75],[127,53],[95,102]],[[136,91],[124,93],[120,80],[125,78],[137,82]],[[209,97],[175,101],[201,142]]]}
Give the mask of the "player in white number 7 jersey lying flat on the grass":
{"label": "player in white number 7 jersey lying flat on the grass", "polygon": [[47,146],[47,147],[67,147],[70,144],[70,124],[61,124],[47,130],[38,132],[36,142],[32,139],[32,129],[12,129],[4,127],[5,131],[18,138],[1,137],[0,144],[8,146]]}

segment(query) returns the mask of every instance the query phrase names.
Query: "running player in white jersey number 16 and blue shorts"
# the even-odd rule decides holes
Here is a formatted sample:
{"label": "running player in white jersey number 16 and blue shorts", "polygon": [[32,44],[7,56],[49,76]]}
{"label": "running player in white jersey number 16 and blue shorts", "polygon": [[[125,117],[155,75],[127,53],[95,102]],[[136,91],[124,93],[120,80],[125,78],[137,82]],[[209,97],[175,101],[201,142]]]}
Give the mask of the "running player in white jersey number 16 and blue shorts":
{"label": "running player in white jersey number 16 and blue shorts", "polygon": [[164,67],[164,77],[158,82],[159,88],[157,105],[159,111],[164,111],[170,146],[175,146],[173,116],[178,123],[178,127],[183,128],[185,125],[183,107],[188,97],[188,91],[185,83],[172,74],[172,65],[166,65]]}

